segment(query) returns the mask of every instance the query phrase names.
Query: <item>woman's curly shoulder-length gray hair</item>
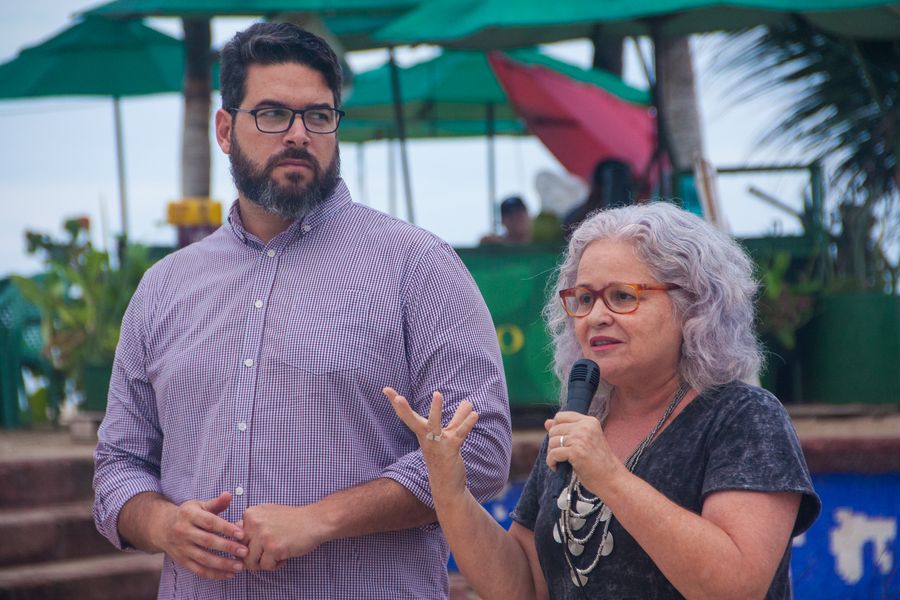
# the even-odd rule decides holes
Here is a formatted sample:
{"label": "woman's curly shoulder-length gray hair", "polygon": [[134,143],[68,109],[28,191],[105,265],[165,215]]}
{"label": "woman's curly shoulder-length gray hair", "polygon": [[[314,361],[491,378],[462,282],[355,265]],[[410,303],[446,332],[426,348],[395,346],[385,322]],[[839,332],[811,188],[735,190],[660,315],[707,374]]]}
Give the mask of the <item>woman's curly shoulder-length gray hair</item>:
{"label": "woman's curly shoulder-length gray hair", "polygon": [[[575,285],[581,256],[596,240],[630,243],[658,281],[681,286],[669,294],[683,336],[678,371],[692,388],[703,391],[757,374],[762,353],[754,330],[752,261],[737,242],[701,218],[668,202],[652,202],[594,213],[572,234],[544,307],[562,398],[581,348],[557,292]],[[608,390],[601,386],[599,395]]]}

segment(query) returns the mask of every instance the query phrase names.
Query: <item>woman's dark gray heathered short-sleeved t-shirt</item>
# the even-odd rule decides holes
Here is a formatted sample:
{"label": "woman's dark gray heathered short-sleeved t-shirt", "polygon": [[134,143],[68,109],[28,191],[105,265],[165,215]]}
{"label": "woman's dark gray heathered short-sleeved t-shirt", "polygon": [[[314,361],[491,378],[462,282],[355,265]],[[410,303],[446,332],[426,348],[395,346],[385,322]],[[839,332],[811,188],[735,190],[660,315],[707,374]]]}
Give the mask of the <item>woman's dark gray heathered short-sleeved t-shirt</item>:
{"label": "woman's dark gray heathered short-sleeved t-shirt", "polygon": [[[600,559],[585,588],[576,588],[553,539],[560,484],[545,462],[547,440],[531,470],[512,518],[534,531],[551,598],[682,598],[650,557],[613,518],[613,552]],[[793,535],[806,531],[821,509],[800,442],[784,407],[769,392],[731,383],[696,397],[644,452],[635,474],[670,500],[700,513],[707,495],[721,490],[803,494]],[[648,518],[652,518],[650,515]],[[596,555],[602,528],[576,559],[586,567]],[[790,544],[767,599],[791,597]],[[579,560],[581,562],[579,562]]]}

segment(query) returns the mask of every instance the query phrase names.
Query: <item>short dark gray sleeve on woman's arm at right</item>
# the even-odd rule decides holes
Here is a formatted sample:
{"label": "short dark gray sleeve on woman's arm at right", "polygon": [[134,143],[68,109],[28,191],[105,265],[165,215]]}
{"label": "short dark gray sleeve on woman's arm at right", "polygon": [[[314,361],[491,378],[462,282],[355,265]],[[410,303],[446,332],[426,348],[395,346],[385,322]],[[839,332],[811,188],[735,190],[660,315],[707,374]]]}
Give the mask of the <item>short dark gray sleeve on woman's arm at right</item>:
{"label": "short dark gray sleeve on woman's arm at right", "polygon": [[703,481],[703,497],[722,490],[802,494],[793,535],[806,531],[821,510],[787,411],[759,388],[732,403],[716,431]]}

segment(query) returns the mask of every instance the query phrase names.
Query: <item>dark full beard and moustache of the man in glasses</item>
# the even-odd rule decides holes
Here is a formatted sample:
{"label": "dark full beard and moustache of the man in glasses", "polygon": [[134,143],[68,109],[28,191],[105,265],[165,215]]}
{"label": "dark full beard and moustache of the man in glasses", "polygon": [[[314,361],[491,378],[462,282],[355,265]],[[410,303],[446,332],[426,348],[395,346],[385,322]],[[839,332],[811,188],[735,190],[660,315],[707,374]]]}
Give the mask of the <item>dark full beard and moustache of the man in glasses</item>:
{"label": "dark full beard and moustache of the man in glasses", "polygon": [[[312,169],[308,179],[299,173],[290,173],[288,183],[279,184],[272,177],[278,164],[288,159],[306,161]],[[308,150],[289,147],[271,157],[262,169],[257,169],[250,158],[241,151],[234,134],[231,136],[231,176],[234,185],[248,200],[258,204],[266,212],[286,220],[302,219],[321,206],[337,186],[341,172],[341,157],[337,146],[334,158],[325,171]]]}

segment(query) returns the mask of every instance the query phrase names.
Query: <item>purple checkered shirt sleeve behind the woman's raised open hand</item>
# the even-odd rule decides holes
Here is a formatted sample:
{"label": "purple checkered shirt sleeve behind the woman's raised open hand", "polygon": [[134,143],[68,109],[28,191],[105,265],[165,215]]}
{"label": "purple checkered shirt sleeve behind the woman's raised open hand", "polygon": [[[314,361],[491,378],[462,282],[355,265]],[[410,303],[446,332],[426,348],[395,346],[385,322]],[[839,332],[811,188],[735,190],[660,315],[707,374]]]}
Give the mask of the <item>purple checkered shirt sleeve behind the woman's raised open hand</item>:
{"label": "purple checkered shirt sleeve behind the woman's raised open hand", "polygon": [[[469,490],[484,502],[503,489],[512,454],[506,380],[490,313],[471,275],[446,244],[423,256],[404,285],[402,302],[412,386],[407,399],[425,415],[432,393],[440,391],[444,426],[463,400],[472,403],[478,423],[461,453]],[[401,457],[382,476],[434,506],[421,450]]]}

